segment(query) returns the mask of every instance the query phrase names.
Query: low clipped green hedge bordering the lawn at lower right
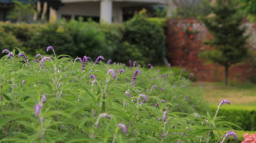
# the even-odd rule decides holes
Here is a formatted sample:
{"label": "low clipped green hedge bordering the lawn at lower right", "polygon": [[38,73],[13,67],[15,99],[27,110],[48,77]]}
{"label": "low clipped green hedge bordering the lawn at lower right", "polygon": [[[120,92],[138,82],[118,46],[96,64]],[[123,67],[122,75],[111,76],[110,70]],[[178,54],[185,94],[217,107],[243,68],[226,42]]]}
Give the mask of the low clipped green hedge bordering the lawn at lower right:
{"label": "low clipped green hedge bordering the lawn at lower right", "polygon": [[[211,107],[214,111],[216,108]],[[246,109],[225,109],[221,108],[219,116],[223,116],[226,121],[235,123],[244,130],[256,130],[256,111]],[[238,129],[234,127],[234,129]]]}

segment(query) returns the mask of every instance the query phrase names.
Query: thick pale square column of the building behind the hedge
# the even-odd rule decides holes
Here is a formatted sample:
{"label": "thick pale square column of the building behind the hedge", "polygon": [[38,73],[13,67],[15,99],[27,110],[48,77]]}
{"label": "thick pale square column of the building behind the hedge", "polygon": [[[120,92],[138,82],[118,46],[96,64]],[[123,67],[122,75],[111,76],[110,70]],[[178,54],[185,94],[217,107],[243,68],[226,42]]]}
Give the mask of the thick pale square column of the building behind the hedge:
{"label": "thick pale square column of the building behind the hedge", "polygon": [[112,23],[112,0],[101,0],[100,19]]}

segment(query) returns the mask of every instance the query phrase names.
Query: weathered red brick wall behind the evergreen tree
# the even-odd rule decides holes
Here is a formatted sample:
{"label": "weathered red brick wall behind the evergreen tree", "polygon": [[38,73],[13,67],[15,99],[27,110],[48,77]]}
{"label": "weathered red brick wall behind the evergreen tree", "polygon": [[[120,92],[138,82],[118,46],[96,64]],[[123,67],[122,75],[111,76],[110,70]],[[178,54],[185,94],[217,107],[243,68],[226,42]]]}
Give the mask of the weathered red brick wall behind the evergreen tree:
{"label": "weathered red brick wall behind the evergreen tree", "polygon": [[[211,38],[206,27],[201,22],[193,19],[193,38],[190,38],[184,29],[190,26],[189,19],[171,18],[167,21],[167,52],[172,65],[185,67],[192,71],[197,80],[200,81],[223,81],[224,67],[217,63],[207,63],[198,57],[198,53],[209,47],[203,45],[203,41]],[[247,32],[252,32],[250,47],[256,48],[255,24],[245,23],[249,25]],[[247,60],[243,63],[238,63],[230,67],[229,78],[232,81],[250,80],[252,75],[256,75],[255,64]]]}

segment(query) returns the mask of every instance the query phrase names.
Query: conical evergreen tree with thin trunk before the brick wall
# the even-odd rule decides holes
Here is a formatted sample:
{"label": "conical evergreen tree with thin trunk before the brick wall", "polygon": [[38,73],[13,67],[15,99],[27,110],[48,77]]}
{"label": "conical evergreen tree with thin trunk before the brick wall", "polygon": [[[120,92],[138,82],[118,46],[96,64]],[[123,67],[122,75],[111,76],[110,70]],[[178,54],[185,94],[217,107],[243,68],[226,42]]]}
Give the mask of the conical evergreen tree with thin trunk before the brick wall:
{"label": "conical evergreen tree with thin trunk before the brick wall", "polygon": [[248,35],[244,35],[246,27],[242,27],[244,17],[239,12],[241,6],[237,0],[213,0],[210,8],[211,14],[201,20],[213,36],[205,43],[210,45],[211,49],[203,51],[200,56],[225,67],[227,85],[229,67],[248,57]]}

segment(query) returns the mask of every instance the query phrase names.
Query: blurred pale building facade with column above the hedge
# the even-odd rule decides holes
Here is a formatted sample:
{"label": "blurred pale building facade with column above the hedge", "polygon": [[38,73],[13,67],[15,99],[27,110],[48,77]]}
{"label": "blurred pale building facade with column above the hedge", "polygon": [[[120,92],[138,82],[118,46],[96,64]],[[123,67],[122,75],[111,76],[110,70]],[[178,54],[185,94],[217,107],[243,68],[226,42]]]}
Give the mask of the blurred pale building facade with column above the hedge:
{"label": "blurred pale building facade with column above the hedge", "polygon": [[133,15],[133,10],[147,6],[166,5],[168,0],[61,0],[64,6],[57,11],[57,20],[61,18],[89,18],[95,21],[121,23]]}

